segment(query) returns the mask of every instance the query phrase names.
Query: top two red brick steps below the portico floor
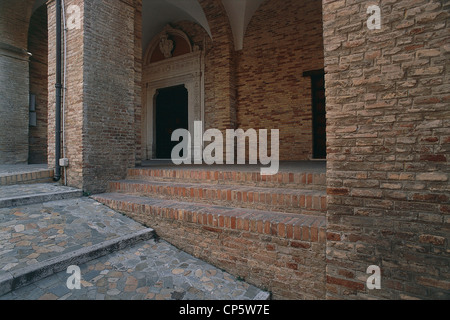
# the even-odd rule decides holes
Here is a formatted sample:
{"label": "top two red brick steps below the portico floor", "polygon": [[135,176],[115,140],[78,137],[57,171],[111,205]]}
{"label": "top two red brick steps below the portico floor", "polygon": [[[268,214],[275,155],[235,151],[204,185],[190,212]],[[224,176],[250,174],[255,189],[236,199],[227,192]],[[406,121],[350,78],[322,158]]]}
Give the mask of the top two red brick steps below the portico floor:
{"label": "top two red brick steps below the portico floor", "polygon": [[261,176],[258,172],[130,169],[126,180],[109,183],[108,193],[129,199],[170,199],[175,202],[246,208],[261,211],[324,216],[325,173],[282,172]]}

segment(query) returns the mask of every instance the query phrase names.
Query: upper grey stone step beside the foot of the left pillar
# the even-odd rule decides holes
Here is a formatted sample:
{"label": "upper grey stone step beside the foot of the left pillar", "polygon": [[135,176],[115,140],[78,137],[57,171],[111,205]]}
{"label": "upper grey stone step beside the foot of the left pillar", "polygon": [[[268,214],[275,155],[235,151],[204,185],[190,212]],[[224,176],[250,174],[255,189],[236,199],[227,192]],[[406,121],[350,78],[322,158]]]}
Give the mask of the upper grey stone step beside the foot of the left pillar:
{"label": "upper grey stone step beside the foot of the left pillar", "polygon": [[0,208],[78,198],[83,191],[58,184],[23,184],[0,187]]}

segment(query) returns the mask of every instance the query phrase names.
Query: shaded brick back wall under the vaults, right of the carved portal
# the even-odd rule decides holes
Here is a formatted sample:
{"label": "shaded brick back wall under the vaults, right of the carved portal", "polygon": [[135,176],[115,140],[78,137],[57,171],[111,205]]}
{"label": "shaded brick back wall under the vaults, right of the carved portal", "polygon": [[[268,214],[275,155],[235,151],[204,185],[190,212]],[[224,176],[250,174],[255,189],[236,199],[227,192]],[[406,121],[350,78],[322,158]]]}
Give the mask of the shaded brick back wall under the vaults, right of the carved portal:
{"label": "shaded brick back wall under the vaults, right of the carved portal", "polygon": [[303,72],[324,66],[320,2],[287,1],[281,8],[277,1],[266,2],[240,52],[234,50],[222,4],[201,4],[213,39],[192,22],[174,27],[200,47],[205,40],[205,128],[281,129],[281,160],[308,159],[311,83]]}

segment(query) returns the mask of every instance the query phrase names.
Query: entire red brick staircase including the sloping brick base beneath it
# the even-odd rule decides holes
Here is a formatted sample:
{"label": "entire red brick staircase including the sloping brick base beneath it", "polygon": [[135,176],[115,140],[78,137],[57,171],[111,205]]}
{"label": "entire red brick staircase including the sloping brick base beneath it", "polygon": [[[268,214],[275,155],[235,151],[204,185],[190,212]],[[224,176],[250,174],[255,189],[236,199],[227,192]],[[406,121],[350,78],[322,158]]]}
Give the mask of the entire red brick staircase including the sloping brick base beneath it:
{"label": "entire red brick staircase including the sloping brick base beneath it", "polygon": [[[92,198],[275,296],[292,296],[295,288],[286,288],[298,285],[304,291],[297,298],[320,297],[314,292],[324,284],[325,170],[261,176],[244,168],[142,167]],[[312,280],[304,284],[305,276]]]}

